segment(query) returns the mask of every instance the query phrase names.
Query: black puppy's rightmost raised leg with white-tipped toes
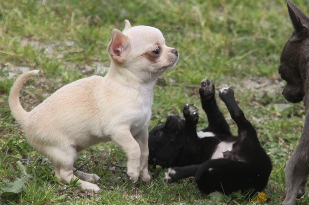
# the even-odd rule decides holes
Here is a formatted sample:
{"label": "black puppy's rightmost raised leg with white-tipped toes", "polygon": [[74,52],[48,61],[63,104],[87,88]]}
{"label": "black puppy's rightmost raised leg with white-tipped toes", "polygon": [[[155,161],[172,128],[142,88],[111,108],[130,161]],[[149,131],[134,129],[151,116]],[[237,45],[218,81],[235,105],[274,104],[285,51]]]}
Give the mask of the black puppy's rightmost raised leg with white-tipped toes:
{"label": "black puppy's rightmost raised leg with white-tipped toes", "polygon": [[219,90],[219,97],[225,103],[232,119],[237,124],[240,141],[242,141],[247,136],[251,136],[251,138],[253,137],[252,139],[258,140],[256,130],[245,118],[243,111],[239,108],[235,101],[234,91],[231,88],[222,88]]}

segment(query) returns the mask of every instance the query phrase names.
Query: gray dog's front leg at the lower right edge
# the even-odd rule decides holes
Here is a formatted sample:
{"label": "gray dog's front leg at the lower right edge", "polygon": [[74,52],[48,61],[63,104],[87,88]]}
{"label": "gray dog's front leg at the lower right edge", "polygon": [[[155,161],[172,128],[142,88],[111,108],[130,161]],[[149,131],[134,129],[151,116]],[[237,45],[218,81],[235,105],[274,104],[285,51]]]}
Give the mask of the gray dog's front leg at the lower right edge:
{"label": "gray dog's front leg at the lower right edge", "polygon": [[286,199],[283,205],[294,205],[303,196],[309,174],[309,111],[299,143],[286,164]]}

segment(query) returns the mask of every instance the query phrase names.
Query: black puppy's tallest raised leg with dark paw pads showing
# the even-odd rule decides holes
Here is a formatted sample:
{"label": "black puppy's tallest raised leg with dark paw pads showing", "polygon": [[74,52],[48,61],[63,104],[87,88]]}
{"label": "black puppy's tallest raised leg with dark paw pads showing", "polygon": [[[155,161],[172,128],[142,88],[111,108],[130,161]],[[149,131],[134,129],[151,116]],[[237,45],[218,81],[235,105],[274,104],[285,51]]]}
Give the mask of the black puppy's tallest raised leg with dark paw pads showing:
{"label": "black puppy's tallest raised leg with dark paw pads showing", "polygon": [[205,111],[208,119],[208,128],[203,131],[230,135],[230,126],[226,122],[216,102],[214,83],[209,81],[207,78],[203,79],[199,92],[202,108]]}

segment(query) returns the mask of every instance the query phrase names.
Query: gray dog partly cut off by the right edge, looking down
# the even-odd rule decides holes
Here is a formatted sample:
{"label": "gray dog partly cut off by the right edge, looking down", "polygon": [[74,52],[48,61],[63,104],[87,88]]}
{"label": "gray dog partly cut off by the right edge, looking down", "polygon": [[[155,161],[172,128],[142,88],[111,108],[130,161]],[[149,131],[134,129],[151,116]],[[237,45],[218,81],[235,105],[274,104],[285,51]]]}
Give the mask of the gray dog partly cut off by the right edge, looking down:
{"label": "gray dog partly cut off by the right edge, looking down", "polygon": [[306,119],[298,146],[286,164],[286,198],[283,204],[295,204],[296,198],[304,195],[309,174],[309,19],[293,4],[286,0],[294,32],[284,46],[279,73],[286,81],[282,94],[289,102],[303,101]]}

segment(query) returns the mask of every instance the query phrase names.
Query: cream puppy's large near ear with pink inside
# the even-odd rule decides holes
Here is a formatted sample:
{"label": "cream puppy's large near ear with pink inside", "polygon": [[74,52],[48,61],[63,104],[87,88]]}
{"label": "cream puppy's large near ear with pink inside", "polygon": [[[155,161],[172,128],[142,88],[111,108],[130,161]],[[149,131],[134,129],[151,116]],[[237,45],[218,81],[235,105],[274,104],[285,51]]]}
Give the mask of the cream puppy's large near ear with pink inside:
{"label": "cream puppy's large near ear with pink inside", "polygon": [[111,58],[123,63],[130,52],[129,37],[125,36],[118,29],[113,30],[112,40],[108,45],[108,53]]}

